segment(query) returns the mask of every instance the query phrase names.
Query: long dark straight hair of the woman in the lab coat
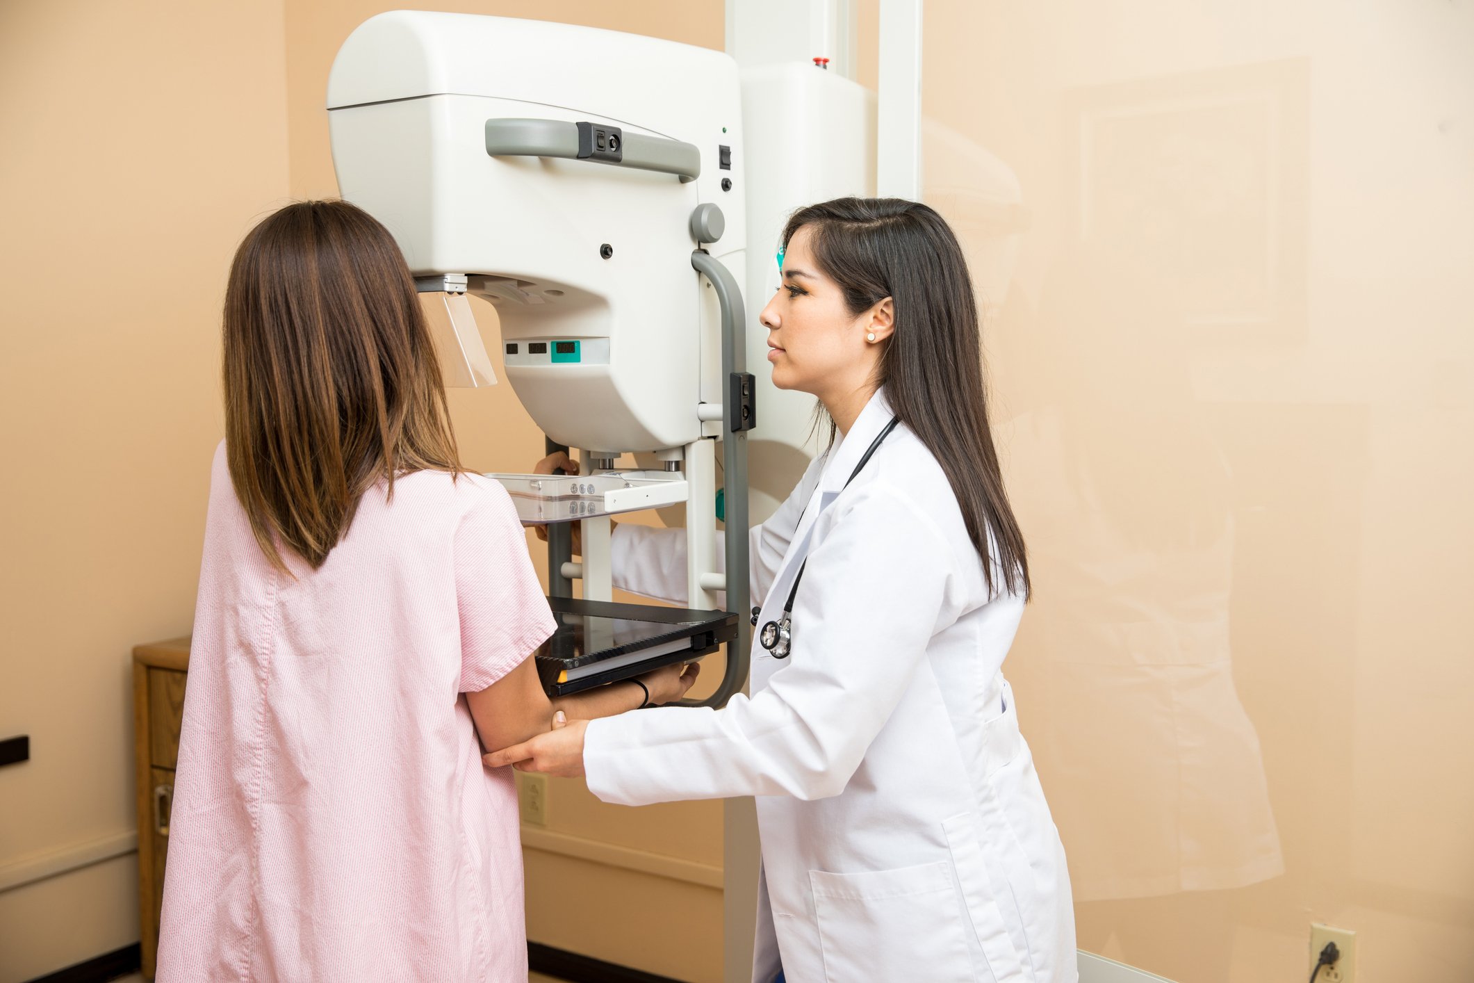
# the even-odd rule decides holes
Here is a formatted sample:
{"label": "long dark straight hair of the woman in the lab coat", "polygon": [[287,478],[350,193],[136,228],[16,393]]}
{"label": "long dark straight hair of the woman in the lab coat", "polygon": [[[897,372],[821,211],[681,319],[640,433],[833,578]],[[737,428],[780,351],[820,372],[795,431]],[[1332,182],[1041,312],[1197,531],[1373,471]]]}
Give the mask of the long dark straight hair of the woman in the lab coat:
{"label": "long dark straight hair of the woman in the lab coat", "polygon": [[895,332],[876,383],[942,466],[989,592],[1002,587],[1027,597],[1029,559],[988,427],[977,302],[957,236],[936,211],[901,197],[800,208],[783,228],[784,248],[803,227],[812,230],[815,262],[845,292],[850,314],[892,299]]}

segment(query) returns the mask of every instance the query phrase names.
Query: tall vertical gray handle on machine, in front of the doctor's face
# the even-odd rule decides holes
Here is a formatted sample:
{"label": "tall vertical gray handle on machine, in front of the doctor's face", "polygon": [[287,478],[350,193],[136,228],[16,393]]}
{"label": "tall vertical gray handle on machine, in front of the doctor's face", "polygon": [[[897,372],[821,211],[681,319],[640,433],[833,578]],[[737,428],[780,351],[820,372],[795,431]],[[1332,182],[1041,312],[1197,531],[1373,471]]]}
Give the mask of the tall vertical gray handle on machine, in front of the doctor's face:
{"label": "tall vertical gray handle on machine, in front of the doctor's face", "polygon": [[[722,374],[728,379],[727,399],[722,401],[722,467],[725,477],[727,534],[727,610],[737,612],[737,640],[727,646],[727,672],[716,693],[691,706],[722,706],[747,684],[752,646],[752,625],[747,609],[752,590],[747,578],[747,429],[750,399],[736,398],[736,380],[747,371],[747,320],[741,304],[741,289],[731,271],[710,253],[697,249],[691,267],[712,281],[722,311]],[[750,377],[749,377],[750,379]],[[690,503],[691,508],[702,503]]]}

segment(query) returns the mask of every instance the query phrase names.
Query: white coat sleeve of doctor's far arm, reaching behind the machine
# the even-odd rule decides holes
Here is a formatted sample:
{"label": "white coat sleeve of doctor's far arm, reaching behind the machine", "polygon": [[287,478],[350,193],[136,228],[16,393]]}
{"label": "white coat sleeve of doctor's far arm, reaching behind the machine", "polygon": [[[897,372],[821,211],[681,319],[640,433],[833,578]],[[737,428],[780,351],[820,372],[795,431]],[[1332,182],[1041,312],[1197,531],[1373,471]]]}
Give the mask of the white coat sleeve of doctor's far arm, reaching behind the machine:
{"label": "white coat sleeve of doctor's far arm, reaching behind the machine", "polygon": [[[752,528],[747,545],[753,603],[766,597],[815,480],[817,472],[811,469],[768,522]],[[684,529],[621,523],[615,526],[609,551],[615,587],[668,604],[687,606]],[[716,534],[716,572],[727,572],[727,536],[721,532]],[[725,606],[725,594],[719,594],[716,603]]]}

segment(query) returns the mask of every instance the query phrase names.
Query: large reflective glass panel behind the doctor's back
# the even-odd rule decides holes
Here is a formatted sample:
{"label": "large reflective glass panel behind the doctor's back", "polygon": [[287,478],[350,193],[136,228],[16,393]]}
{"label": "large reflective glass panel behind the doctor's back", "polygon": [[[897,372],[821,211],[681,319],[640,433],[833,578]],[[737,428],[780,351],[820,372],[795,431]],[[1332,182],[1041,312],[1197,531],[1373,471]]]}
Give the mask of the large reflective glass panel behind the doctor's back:
{"label": "large reflective glass panel behind the doctor's back", "polygon": [[1474,979],[1474,7],[929,0],[1079,943]]}

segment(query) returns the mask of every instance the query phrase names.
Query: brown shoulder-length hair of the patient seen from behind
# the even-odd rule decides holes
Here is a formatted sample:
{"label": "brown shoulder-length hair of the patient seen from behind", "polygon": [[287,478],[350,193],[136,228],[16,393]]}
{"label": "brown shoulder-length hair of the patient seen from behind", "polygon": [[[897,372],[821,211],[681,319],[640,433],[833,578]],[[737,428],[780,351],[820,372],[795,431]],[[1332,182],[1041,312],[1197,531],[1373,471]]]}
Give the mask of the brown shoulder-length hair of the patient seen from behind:
{"label": "brown shoulder-length hair of the patient seen from behind", "polygon": [[224,312],[226,455],[251,529],[314,569],[358,500],[460,458],[414,280],[389,231],[348,202],[298,202],[236,251]]}

